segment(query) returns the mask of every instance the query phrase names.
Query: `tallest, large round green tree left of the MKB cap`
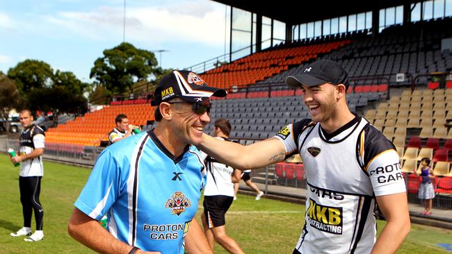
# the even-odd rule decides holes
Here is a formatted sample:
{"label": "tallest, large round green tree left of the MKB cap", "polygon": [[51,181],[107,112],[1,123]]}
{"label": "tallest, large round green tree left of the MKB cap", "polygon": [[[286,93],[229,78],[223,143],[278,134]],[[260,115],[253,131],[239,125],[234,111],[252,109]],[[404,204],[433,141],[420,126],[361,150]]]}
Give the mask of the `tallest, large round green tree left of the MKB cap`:
{"label": "tallest, large round green tree left of the MKB cap", "polygon": [[113,49],[104,50],[104,56],[97,58],[90,72],[90,78],[95,78],[99,85],[104,86],[113,94],[122,94],[138,81],[143,81],[158,69],[154,53],[137,49],[134,45],[122,42]]}

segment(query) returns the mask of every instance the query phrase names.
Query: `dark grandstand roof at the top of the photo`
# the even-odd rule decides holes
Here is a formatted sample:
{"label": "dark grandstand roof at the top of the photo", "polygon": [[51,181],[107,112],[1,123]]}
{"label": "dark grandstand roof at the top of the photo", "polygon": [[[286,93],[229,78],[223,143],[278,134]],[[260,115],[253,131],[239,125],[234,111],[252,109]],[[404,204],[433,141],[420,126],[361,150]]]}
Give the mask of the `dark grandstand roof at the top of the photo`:
{"label": "dark grandstand roof at the top of the photo", "polygon": [[228,6],[240,8],[277,19],[287,24],[302,24],[321,19],[341,17],[360,12],[379,10],[405,3],[415,3],[419,0],[369,0],[369,1],[234,1],[213,0]]}

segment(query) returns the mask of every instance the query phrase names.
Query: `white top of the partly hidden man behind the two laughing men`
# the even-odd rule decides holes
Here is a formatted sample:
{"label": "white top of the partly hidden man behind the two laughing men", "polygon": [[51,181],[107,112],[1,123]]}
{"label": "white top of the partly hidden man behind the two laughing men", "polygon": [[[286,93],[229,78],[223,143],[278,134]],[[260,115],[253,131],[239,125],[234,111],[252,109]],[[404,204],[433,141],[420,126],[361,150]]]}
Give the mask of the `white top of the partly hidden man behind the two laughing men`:
{"label": "white top of the partly hidden man behind the two laughing men", "polygon": [[[216,137],[216,139],[226,140],[224,137]],[[204,188],[204,196],[234,196],[234,183],[231,176],[234,172],[232,167],[218,162],[215,158],[211,158],[204,152],[201,152],[201,158],[205,160],[207,166],[207,181]]]}

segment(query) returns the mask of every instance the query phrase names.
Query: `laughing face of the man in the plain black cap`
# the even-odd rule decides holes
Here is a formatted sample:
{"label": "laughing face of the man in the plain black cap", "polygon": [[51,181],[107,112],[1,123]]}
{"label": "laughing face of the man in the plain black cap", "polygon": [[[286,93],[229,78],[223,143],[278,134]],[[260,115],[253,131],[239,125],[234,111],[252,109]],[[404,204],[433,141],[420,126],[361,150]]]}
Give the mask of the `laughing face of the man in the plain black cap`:
{"label": "laughing face of the man in the plain black cap", "polygon": [[302,85],[303,101],[309,108],[312,121],[326,122],[336,115],[336,85],[324,83],[309,87]]}

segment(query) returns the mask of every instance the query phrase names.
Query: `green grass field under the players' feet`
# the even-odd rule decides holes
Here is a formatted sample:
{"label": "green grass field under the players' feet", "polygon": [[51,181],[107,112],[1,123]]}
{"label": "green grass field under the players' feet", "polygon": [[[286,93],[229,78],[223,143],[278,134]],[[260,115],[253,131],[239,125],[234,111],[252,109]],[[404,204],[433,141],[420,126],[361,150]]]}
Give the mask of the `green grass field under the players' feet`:
{"label": "green grass field under the players' feet", "polygon": [[[45,239],[35,243],[9,235],[23,223],[19,172],[6,155],[0,155],[0,172],[0,193],[3,194],[0,201],[0,253],[92,253],[66,232],[72,204],[90,174],[89,169],[45,162],[41,188]],[[254,196],[239,195],[227,213],[227,232],[245,253],[292,253],[304,222],[304,212],[304,205],[266,198],[255,201]],[[32,221],[34,228],[34,218]],[[378,228],[384,224],[385,221],[379,221]],[[413,224],[398,253],[452,253],[437,244],[452,244],[452,231]],[[218,244],[215,252],[226,253]]]}

